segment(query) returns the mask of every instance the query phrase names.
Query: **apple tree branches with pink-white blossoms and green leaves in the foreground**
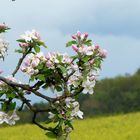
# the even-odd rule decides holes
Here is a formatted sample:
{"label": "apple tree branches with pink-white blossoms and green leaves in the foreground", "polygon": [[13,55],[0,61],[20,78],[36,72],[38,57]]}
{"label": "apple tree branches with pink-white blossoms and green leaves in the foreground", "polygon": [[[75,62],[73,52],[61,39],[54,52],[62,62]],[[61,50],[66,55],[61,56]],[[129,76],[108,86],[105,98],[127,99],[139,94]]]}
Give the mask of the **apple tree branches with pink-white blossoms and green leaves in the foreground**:
{"label": "apple tree branches with pink-white blossoms and green leaves in the foreground", "polygon": [[[3,60],[8,48],[3,34],[7,30],[9,28],[5,24],[0,25],[0,58]],[[68,139],[73,130],[73,119],[83,119],[77,99],[81,94],[94,93],[101,62],[107,51],[93,45],[88,34],[81,34],[79,31],[66,44],[66,47],[72,47],[74,50],[73,56],[58,52],[48,52],[44,55],[40,47],[47,46],[35,30],[25,32],[17,41],[19,48],[16,52],[22,56],[15,70],[9,77],[2,76],[3,71],[0,70],[0,124],[14,125],[19,120],[16,102],[20,100],[22,104],[18,110],[21,111],[26,105],[33,112],[32,122],[47,131],[48,136]],[[28,75],[28,83],[23,84],[15,78],[19,70]],[[46,92],[41,92],[41,89],[47,91],[48,88],[57,92],[57,96],[48,96]],[[44,99],[49,107],[33,106],[32,101],[28,99],[32,94]],[[36,121],[37,115],[43,112],[47,112],[48,116],[44,123],[39,123]]]}

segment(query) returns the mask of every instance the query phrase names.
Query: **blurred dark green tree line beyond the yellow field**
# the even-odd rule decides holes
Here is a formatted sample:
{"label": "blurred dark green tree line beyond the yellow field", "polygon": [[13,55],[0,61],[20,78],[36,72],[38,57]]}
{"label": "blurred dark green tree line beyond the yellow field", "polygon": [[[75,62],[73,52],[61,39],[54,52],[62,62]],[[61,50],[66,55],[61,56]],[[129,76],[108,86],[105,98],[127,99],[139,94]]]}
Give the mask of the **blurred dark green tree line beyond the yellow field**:
{"label": "blurred dark green tree line beyond the yellow field", "polygon": [[[82,94],[79,102],[85,117],[140,111],[140,69],[133,75],[127,74],[98,81],[94,95]],[[40,102],[34,106],[46,108],[47,104]],[[38,120],[46,120],[47,115],[40,114]],[[28,108],[24,107],[20,113],[20,123],[30,122],[32,116]]]}

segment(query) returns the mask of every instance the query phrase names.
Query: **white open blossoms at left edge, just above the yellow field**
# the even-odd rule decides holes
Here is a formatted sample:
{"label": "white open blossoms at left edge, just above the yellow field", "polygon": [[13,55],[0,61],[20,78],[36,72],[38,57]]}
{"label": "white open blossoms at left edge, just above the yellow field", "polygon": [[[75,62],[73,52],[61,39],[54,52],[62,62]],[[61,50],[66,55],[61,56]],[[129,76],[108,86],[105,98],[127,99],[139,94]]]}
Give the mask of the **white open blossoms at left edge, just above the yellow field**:
{"label": "white open blossoms at left edge, just above the yellow field", "polygon": [[12,115],[8,115],[7,113],[0,111],[0,124],[5,122],[9,125],[15,125],[16,121],[18,121],[19,119],[20,118],[16,114],[15,110],[12,113]]}

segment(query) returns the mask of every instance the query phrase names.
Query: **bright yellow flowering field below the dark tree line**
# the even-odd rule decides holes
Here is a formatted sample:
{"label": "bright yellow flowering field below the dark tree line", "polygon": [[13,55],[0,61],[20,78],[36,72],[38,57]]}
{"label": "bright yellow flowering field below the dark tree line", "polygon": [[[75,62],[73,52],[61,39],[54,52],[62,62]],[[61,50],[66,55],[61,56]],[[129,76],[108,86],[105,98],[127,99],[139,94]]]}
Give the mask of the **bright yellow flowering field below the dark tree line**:
{"label": "bright yellow flowering field below the dark tree line", "polygon": [[[71,140],[140,140],[140,112],[78,120]],[[0,140],[49,140],[37,126],[0,128]]]}

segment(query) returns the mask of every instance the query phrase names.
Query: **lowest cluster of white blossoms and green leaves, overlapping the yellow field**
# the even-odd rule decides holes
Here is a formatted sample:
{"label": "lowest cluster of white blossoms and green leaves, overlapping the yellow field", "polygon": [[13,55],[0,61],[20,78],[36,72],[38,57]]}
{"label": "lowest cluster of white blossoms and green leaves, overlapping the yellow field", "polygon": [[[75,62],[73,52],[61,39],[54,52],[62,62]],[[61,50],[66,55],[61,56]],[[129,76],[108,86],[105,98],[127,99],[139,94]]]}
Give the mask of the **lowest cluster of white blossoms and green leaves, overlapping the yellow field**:
{"label": "lowest cluster of white blossoms and green leaves, overlapping the yellow field", "polygon": [[[62,133],[70,133],[73,129],[72,120],[74,118],[83,119],[83,112],[79,110],[79,103],[71,98],[67,97],[64,100],[56,101],[52,108],[52,112],[48,112],[48,118],[57,123],[56,128],[62,125]],[[58,129],[58,131],[60,131]]]}

